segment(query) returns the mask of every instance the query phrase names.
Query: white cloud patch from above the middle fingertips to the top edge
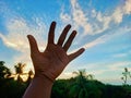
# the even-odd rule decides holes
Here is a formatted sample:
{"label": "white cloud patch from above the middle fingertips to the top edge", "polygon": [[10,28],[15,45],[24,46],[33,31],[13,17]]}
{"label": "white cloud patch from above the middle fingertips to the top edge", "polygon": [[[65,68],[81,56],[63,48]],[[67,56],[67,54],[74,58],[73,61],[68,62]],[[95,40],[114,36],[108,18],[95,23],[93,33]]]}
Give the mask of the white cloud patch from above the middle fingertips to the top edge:
{"label": "white cloud patch from above the middle fingertips to the top edge", "polygon": [[60,13],[60,19],[62,22],[70,22],[74,29],[83,29],[83,34],[92,32],[92,25],[88,22],[88,17],[84,14],[76,0],[70,0],[71,2],[71,13],[64,13],[64,10]]}

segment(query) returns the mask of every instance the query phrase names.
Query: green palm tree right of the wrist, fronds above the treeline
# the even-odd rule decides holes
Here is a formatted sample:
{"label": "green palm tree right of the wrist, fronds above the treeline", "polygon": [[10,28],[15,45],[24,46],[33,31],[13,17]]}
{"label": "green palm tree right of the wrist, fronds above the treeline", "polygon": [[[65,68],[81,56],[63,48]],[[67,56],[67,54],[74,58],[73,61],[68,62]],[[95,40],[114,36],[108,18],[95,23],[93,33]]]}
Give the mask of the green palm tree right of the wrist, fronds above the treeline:
{"label": "green palm tree right of the wrist, fronds above the treeline", "polygon": [[86,83],[87,79],[93,79],[93,75],[87,75],[85,70],[79,70],[79,72],[73,72],[73,74],[76,74],[76,81],[72,85],[69,95],[71,98],[87,98]]}

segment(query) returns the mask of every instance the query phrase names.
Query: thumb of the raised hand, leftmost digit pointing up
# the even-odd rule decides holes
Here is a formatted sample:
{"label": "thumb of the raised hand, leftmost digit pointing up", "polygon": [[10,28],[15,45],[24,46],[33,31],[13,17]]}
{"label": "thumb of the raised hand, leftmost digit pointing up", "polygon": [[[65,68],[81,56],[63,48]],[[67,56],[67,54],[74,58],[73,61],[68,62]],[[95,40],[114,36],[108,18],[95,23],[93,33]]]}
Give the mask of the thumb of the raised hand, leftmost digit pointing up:
{"label": "thumb of the raised hand, leftmost digit pointing up", "polygon": [[32,35],[27,35],[29,47],[31,47],[31,53],[38,52],[38,47],[35,38]]}

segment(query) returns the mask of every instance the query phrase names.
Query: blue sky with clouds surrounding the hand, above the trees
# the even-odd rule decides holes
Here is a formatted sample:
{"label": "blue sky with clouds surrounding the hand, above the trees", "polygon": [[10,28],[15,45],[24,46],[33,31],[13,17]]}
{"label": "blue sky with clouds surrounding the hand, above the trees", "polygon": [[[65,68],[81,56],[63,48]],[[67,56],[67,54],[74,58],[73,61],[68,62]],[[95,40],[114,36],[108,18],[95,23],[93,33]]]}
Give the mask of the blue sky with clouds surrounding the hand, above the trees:
{"label": "blue sky with clouds surrounding the hand, above the trees", "polygon": [[67,24],[78,30],[69,53],[86,49],[59,78],[86,69],[104,83],[122,84],[123,69],[131,71],[131,0],[0,0],[0,60],[12,70],[17,62],[33,69],[26,35],[34,35],[43,51],[52,21],[56,41]]}

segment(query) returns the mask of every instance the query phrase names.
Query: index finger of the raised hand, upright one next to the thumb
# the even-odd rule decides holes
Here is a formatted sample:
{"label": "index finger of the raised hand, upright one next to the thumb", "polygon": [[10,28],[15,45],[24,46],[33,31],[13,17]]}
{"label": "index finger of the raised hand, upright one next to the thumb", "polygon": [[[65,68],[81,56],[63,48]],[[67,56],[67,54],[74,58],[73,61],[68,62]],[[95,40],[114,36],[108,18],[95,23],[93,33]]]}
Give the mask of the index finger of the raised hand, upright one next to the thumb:
{"label": "index finger of the raised hand, upright one next to the thumb", "polygon": [[53,44],[56,22],[52,22],[48,34],[48,44]]}

